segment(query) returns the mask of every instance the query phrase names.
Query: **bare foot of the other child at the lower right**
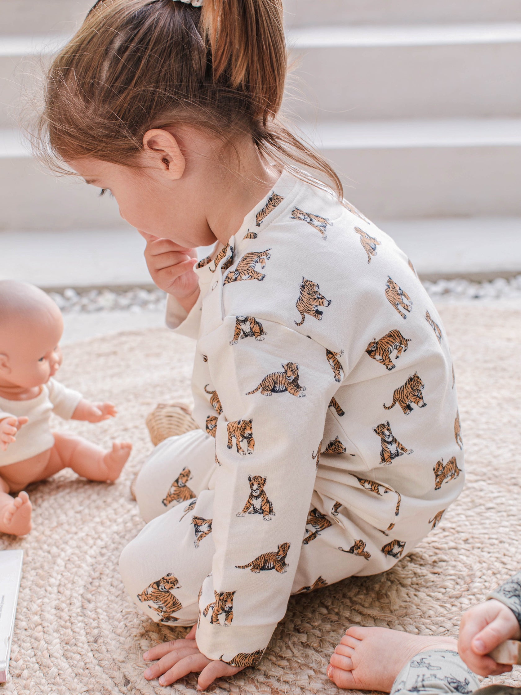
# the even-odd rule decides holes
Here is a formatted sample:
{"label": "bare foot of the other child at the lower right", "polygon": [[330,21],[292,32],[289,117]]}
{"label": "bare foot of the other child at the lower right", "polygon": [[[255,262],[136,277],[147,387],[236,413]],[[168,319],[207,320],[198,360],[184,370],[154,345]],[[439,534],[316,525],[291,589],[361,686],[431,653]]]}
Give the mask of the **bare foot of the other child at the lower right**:
{"label": "bare foot of the other child at the lower right", "polygon": [[331,655],[327,675],[339,688],[390,692],[399,672],[428,649],[458,651],[452,637],[424,637],[388,628],[352,626]]}

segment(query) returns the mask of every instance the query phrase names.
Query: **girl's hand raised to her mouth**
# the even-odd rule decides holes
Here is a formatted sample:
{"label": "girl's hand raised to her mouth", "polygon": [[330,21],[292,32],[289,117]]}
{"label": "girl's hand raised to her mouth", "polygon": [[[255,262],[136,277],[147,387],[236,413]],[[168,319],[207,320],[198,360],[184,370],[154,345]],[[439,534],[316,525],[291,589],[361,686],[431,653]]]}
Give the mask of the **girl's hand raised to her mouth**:
{"label": "girl's hand raised to her mouth", "polygon": [[178,300],[190,297],[196,291],[198,293],[199,280],[194,272],[197,264],[195,249],[187,249],[147,231],[138,231],[147,242],[144,259],[158,288]]}

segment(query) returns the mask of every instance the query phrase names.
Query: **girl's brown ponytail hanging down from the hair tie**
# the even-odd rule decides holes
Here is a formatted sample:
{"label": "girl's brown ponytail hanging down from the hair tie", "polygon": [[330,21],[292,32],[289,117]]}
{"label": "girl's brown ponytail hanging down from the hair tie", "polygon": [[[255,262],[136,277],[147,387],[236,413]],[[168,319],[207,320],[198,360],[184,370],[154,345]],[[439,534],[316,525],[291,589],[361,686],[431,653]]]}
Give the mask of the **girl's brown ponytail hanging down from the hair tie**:
{"label": "girl's brown ponytail hanging down from the hair tie", "polygon": [[204,0],[202,23],[210,46],[213,79],[251,99],[263,125],[281,107],[286,41],[281,0]]}

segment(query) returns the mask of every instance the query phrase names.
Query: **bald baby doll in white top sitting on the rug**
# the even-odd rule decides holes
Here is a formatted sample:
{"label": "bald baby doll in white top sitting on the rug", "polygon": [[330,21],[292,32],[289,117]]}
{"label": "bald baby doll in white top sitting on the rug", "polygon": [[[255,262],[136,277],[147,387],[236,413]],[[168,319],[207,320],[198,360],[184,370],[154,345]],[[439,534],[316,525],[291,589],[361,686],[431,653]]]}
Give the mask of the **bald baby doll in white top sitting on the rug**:
{"label": "bald baby doll in white top sitting on the rug", "polygon": [[[112,403],[91,403],[52,377],[62,363],[58,306],[33,285],[0,281],[0,532],[31,530],[28,484],[72,468],[88,480],[119,477],[132,445],[105,451],[74,434],[51,432],[49,418],[99,423],[114,417]],[[9,493],[18,493],[16,497]]]}

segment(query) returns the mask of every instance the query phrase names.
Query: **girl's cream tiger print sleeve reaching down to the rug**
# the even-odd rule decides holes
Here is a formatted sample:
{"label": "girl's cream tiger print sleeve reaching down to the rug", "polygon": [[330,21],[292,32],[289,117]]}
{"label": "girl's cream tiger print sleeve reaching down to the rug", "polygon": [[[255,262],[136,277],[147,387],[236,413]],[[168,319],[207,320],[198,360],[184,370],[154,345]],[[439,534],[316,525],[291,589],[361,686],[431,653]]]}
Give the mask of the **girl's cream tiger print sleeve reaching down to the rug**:
{"label": "girl's cream tiger print sleeve reaching down to the rug", "polygon": [[[215,555],[199,599],[197,645],[208,658],[239,665],[258,661],[286,612],[338,384],[324,347],[278,322],[256,318],[238,339],[235,316],[227,316],[206,341],[222,412]],[[225,603],[222,624],[215,616]]]}

